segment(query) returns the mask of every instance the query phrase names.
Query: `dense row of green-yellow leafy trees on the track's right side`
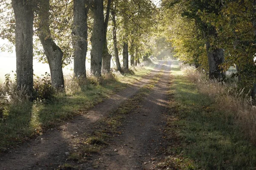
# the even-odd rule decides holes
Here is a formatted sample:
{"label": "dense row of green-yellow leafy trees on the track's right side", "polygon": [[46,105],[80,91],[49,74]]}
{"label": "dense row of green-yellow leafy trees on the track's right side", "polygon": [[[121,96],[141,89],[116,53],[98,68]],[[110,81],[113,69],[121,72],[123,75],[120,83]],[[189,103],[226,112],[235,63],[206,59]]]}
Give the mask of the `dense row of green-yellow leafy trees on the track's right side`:
{"label": "dense row of green-yellow leafy trees on the track's right side", "polygon": [[162,0],[165,35],[176,56],[225,81],[236,67],[238,88],[256,94],[256,0]]}

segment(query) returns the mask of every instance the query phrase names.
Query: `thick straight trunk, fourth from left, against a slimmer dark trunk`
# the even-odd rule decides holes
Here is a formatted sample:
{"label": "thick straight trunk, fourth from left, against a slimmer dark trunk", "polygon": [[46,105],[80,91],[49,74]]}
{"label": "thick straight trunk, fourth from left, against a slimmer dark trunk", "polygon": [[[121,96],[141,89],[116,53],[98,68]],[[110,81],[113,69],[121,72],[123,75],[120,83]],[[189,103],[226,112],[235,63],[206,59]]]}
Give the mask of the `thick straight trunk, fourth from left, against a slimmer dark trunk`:
{"label": "thick straight trunk, fourth from left, against a slimmer dark trunk", "polygon": [[93,34],[91,49],[91,73],[95,76],[102,74],[102,55],[104,41],[103,0],[93,0]]}

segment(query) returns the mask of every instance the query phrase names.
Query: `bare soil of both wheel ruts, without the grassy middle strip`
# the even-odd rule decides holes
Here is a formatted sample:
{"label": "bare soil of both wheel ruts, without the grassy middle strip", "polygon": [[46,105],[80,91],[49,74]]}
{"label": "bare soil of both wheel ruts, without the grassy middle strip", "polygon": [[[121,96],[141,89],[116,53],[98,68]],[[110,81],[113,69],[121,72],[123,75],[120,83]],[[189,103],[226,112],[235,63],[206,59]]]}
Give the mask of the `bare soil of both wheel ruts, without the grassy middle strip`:
{"label": "bare soil of both wheel ruts, without the grassy middle strip", "polygon": [[146,77],[134,85],[106,99],[90,111],[66,122],[27,142],[20,148],[0,156],[0,170],[51,170],[60,169],[68,162],[69,153],[79,150],[84,134],[95,129],[96,122],[116,110],[122,102],[138,93],[150,79],[163,71],[163,76],[151,93],[131,111],[118,127],[119,136],[111,137],[108,146],[94,154],[90,160],[77,163],[84,170],[150,170],[165,156],[166,141],[162,129],[168,112],[167,91],[170,82],[171,62],[160,61]]}

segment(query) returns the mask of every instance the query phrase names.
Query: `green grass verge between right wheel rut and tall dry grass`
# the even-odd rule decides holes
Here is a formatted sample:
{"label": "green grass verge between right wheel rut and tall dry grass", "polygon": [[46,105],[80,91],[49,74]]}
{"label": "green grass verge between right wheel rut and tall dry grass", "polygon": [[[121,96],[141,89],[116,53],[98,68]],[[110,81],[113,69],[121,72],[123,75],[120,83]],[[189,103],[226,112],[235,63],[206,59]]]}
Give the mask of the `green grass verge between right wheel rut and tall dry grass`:
{"label": "green grass verge between right wheel rut and tall dry grass", "polygon": [[160,167],[174,169],[254,169],[256,147],[248,142],[232,117],[215,111],[215,102],[200,94],[174,63],[169,91],[166,135],[169,154]]}

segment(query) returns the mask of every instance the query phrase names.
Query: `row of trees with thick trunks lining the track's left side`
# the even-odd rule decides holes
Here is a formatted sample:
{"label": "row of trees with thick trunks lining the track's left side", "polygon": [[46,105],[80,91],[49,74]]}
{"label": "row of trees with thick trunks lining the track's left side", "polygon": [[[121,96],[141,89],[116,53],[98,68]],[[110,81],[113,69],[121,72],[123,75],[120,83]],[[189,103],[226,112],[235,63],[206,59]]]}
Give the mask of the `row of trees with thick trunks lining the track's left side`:
{"label": "row of trees with thick trunks lining the track's left side", "polygon": [[3,0],[0,6],[0,36],[15,44],[17,88],[29,94],[34,56],[49,63],[52,85],[64,91],[63,66],[73,59],[74,77],[86,79],[89,50],[94,76],[111,71],[112,55],[123,72],[129,54],[130,65],[137,65],[150,53],[146,37],[156,23],[151,0]]}

